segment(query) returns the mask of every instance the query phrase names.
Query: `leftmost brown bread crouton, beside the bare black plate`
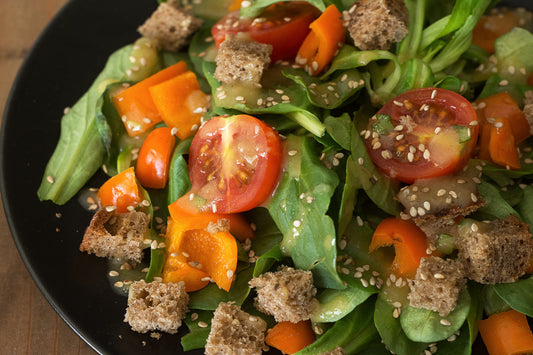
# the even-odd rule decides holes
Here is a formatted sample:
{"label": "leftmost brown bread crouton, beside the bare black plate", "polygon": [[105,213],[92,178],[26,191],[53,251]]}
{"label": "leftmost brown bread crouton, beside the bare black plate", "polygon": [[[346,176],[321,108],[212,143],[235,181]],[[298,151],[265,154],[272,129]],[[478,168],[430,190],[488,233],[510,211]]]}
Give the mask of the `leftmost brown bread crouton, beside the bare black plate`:
{"label": "leftmost brown bread crouton, beside the bare black plate", "polygon": [[150,216],[144,212],[116,213],[99,209],[85,231],[80,251],[103,258],[139,262],[149,236]]}

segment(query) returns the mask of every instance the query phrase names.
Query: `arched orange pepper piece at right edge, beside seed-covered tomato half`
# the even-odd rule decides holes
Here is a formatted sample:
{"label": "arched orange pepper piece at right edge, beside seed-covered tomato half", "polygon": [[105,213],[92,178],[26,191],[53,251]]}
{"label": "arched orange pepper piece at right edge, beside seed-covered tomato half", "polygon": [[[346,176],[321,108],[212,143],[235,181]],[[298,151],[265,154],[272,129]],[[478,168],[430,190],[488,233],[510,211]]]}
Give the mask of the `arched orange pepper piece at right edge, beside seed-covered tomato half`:
{"label": "arched orange pepper piece at right edge, beside seed-covered tomato half", "polygon": [[506,118],[511,124],[516,144],[531,136],[531,127],[524,112],[507,91],[477,100],[474,107],[480,124],[486,123],[489,118]]}

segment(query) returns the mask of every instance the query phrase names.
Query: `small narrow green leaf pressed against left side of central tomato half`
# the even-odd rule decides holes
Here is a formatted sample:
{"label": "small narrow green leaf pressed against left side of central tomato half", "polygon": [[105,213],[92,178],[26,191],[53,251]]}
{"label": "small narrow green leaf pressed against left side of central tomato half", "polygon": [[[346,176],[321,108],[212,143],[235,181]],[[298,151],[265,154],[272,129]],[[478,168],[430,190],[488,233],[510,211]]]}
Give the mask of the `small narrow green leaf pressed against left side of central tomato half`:
{"label": "small narrow green leaf pressed against left side of central tomato half", "polygon": [[191,188],[189,179],[189,166],[185,161],[184,155],[189,152],[192,137],[182,140],[178,143],[170,159],[170,168],[168,173],[168,198],[167,203],[170,205],[181,196],[185,195]]}

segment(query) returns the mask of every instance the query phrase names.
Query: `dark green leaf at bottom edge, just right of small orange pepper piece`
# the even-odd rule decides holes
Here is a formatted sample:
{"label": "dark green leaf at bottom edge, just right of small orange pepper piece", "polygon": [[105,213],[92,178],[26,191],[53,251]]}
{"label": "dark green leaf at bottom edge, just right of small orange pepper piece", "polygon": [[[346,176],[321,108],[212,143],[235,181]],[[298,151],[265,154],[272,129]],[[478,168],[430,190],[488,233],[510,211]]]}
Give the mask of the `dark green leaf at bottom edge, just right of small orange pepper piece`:
{"label": "dark green leaf at bottom edge, just right of small orange pepper piece", "polygon": [[298,355],[319,354],[340,346],[347,354],[358,353],[369,342],[378,338],[376,328],[372,324],[374,300],[367,300],[351,313],[335,322],[318,340],[300,350]]}

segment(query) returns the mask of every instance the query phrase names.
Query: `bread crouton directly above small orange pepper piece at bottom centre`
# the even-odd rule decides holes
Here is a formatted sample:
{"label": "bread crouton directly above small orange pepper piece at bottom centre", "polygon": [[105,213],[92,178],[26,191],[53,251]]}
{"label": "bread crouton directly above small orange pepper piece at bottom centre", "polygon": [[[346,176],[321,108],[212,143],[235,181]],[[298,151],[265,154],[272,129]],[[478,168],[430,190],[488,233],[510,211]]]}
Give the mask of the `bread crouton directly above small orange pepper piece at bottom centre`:
{"label": "bread crouton directly above small orange pepper piece at bottom centre", "polygon": [[316,304],[311,271],[284,266],[253,278],[248,284],[257,291],[255,308],[274,316],[276,322],[307,320]]}

